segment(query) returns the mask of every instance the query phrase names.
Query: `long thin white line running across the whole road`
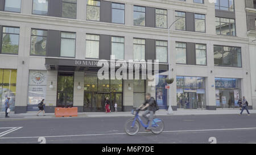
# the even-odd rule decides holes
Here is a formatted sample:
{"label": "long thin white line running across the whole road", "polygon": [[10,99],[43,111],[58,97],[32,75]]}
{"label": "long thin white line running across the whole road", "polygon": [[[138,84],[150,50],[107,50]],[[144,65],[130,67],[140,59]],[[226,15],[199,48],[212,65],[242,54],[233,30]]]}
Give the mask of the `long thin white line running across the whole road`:
{"label": "long thin white line running across the whole road", "polygon": [[[252,130],[255,128],[230,128],[230,129],[197,129],[197,130],[180,130],[180,131],[163,131],[163,132],[205,132],[205,131],[241,131]],[[138,132],[138,133],[151,133],[151,132]],[[57,138],[57,137],[79,137],[79,136],[109,136],[109,135],[126,135],[127,133],[105,133],[105,134],[88,134],[88,135],[63,135],[63,136],[43,136],[45,138]],[[36,137],[0,137],[1,139],[38,139],[42,136]]]}

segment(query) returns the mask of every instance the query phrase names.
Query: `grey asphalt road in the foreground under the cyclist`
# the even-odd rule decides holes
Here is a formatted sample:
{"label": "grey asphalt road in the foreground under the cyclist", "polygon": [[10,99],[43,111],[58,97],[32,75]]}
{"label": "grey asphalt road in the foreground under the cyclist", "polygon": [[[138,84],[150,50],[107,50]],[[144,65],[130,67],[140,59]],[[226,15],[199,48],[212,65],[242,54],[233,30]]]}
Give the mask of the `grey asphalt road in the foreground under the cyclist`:
{"label": "grey asphalt road in the foreground under the cyclist", "polygon": [[141,127],[135,136],[124,131],[130,118],[9,118],[0,120],[0,144],[209,144],[210,137],[221,144],[256,143],[256,114],[159,116],[164,132],[154,135]]}

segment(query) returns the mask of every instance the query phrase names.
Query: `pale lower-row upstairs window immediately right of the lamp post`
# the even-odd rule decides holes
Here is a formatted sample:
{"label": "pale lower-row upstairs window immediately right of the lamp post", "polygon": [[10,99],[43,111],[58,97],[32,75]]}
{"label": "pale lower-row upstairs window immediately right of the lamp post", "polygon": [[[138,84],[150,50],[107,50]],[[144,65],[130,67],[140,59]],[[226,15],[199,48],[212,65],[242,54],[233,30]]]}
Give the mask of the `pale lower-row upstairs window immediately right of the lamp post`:
{"label": "pale lower-row upstairs window immediately right of the lamp post", "polygon": [[187,44],[176,42],[176,64],[187,64]]}

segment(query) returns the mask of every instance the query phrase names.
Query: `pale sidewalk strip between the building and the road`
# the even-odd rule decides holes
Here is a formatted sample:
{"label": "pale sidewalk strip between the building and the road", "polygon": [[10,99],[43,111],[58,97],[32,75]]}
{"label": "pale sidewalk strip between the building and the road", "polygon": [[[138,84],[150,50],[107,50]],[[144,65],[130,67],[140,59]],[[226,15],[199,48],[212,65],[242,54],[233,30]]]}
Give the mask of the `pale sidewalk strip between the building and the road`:
{"label": "pale sidewalk strip between the building and the road", "polygon": [[[217,110],[187,110],[187,109],[178,109],[173,111],[174,114],[167,114],[167,110],[158,110],[156,111],[156,116],[176,116],[176,115],[224,115],[224,114],[239,114],[239,109],[217,109]],[[256,110],[249,110],[250,114],[256,114]],[[46,113],[46,116],[43,116],[41,112],[39,116],[36,116],[37,112],[27,112],[26,114],[14,114],[11,112],[9,114],[10,118],[5,118],[5,112],[0,112],[0,120],[8,119],[48,119],[56,118],[54,113]],[[142,115],[143,112],[140,113]],[[243,111],[243,114],[246,115],[247,112]],[[110,112],[106,114],[105,112],[79,112],[77,118],[101,118],[101,117],[132,117],[131,112]],[[56,118],[58,119],[58,118]],[[61,119],[61,118],[59,118]]]}

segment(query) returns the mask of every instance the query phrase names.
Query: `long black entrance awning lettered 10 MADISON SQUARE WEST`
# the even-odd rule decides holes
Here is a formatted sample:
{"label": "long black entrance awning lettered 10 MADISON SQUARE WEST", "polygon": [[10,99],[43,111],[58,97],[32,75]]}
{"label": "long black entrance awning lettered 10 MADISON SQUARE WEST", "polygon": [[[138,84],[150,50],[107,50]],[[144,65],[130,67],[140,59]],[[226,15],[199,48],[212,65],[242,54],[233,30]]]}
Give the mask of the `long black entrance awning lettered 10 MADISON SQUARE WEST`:
{"label": "long black entrance awning lettered 10 MADISON SQUARE WEST", "polygon": [[[46,69],[47,70],[60,70],[60,71],[72,71],[72,72],[98,72],[103,66],[98,66],[101,64],[100,60],[75,60],[75,59],[64,59],[64,58],[46,58]],[[146,69],[148,63],[143,62],[133,62],[133,63],[123,63],[120,61],[110,62],[105,61],[104,65],[115,66],[115,70],[119,69],[122,64],[126,64],[127,66],[134,65],[136,68],[139,67],[140,74],[142,73],[142,69]],[[152,64],[152,70],[154,70],[154,63]],[[163,73],[168,72],[168,64],[159,64],[159,69],[154,70],[154,73]]]}

